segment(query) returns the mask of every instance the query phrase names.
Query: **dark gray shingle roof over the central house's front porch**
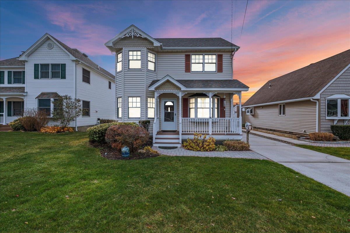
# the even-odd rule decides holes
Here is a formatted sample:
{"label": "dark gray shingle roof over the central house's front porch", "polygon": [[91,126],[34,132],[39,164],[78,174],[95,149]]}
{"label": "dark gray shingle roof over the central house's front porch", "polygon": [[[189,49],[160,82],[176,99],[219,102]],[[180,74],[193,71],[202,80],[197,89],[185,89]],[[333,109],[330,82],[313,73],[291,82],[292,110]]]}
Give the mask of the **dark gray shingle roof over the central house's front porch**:
{"label": "dark gray shingle roof over the central house's front porch", "polygon": [[[159,82],[159,80],[153,80],[149,87]],[[203,80],[203,79],[176,79],[183,86],[187,88],[249,88],[244,83],[241,83],[237,79],[212,79],[212,80]]]}

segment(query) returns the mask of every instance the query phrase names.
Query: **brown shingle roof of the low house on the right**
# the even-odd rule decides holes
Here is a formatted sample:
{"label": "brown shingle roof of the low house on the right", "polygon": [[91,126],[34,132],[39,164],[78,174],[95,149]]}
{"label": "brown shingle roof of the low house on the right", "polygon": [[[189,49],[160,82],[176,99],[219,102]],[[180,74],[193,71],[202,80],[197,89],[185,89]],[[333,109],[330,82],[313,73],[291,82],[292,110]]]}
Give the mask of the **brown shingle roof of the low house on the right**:
{"label": "brown shingle roof of the low house on the right", "polygon": [[267,81],[243,106],[314,97],[349,64],[350,49]]}

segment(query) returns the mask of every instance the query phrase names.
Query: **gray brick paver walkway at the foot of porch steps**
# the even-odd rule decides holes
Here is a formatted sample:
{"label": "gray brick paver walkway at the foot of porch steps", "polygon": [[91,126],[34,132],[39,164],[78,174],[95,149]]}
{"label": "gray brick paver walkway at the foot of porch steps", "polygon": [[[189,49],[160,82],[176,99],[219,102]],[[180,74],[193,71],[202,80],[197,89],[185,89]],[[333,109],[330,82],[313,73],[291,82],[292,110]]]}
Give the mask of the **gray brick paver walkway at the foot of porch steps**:
{"label": "gray brick paver walkway at the foot of porch steps", "polygon": [[152,147],[159,153],[170,156],[200,156],[200,157],[220,157],[220,158],[238,158],[238,159],[267,159],[266,157],[254,152],[254,151],[189,151],[183,147],[177,147],[176,149],[166,150],[159,147]]}

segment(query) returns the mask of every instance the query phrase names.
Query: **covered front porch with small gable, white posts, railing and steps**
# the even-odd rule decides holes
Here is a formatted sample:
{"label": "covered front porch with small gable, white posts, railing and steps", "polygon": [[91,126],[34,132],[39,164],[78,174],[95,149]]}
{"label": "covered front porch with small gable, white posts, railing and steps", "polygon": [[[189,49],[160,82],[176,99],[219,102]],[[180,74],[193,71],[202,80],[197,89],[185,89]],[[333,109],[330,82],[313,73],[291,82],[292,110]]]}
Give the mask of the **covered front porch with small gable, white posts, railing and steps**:
{"label": "covered front porch with small gable, white posts, railing and steps", "polygon": [[154,89],[154,146],[181,146],[194,133],[216,140],[242,139],[242,120],[234,117],[232,109],[235,95],[241,108],[244,88],[188,88],[173,80],[170,77],[149,88]]}

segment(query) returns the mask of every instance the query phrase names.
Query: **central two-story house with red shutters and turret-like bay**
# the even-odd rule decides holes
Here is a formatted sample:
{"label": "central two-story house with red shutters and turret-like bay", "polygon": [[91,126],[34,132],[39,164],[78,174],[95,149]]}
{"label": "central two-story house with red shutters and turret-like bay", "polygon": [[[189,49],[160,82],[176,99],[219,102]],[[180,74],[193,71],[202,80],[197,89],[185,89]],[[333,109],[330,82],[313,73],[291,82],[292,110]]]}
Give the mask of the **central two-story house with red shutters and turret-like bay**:
{"label": "central two-story house with red shutters and turret-like bay", "polygon": [[242,139],[233,96],[248,87],[233,79],[239,47],[222,38],[152,38],[131,25],[105,43],[116,56],[116,117],[150,120],[154,146],[181,146],[195,132]]}

